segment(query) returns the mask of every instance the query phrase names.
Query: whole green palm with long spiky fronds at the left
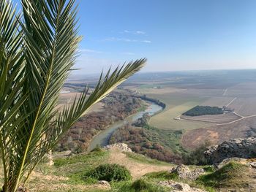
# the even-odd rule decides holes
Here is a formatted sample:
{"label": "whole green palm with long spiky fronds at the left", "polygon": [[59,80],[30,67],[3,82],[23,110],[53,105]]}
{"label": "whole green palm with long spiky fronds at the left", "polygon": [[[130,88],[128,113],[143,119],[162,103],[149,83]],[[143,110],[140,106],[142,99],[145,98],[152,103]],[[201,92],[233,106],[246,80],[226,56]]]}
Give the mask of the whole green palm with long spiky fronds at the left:
{"label": "whole green palm with long spiky fronds at the left", "polygon": [[57,109],[59,91],[75,64],[75,0],[22,0],[23,15],[0,1],[0,152],[2,191],[15,192],[39,161],[91,106],[146,63],[129,62],[85,88],[72,105]]}

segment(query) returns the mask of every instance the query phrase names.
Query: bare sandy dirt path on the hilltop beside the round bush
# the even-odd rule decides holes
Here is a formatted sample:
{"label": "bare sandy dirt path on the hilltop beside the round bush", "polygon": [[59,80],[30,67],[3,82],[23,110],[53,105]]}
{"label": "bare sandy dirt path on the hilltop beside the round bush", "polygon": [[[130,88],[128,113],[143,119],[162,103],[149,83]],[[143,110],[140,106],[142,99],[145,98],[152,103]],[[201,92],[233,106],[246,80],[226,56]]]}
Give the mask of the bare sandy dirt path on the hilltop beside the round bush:
{"label": "bare sandy dirt path on the hilltop beside the round bush", "polygon": [[121,164],[126,166],[127,169],[129,169],[131,172],[133,180],[138,179],[148,172],[160,172],[171,169],[171,164],[170,166],[163,166],[136,162],[135,160],[128,158],[126,154],[121,153],[120,150],[112,150],[110,153],[109,161],[111,164]]}

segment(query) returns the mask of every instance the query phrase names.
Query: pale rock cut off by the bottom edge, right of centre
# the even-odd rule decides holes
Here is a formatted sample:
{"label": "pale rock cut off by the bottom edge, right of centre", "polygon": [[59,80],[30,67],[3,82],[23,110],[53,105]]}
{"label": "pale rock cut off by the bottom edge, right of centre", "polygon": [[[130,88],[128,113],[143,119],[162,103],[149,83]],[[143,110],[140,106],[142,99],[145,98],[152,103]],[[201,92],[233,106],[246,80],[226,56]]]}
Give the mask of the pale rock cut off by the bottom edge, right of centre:
{"label": "pale rock cut off by the bottom edge, right of centre", "polygon": [[173,180],[160,181],[159,185],[164,187],[173,188],[173,192],[205,192],[199,188],[192,188],[186,183],[178,183]]}

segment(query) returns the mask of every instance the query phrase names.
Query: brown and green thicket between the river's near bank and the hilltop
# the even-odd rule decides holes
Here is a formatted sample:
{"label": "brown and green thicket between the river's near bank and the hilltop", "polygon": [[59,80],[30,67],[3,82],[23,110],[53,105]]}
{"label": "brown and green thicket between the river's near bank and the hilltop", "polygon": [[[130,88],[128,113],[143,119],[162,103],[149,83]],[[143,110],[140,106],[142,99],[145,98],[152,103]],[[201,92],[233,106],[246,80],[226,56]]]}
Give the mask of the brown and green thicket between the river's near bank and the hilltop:
{"label": "brown and green thicket between the river's near bank and the hilltop", "polygon": [[110,138],[110,144],[124,142],[134,151],[172,163],[181,162],[182,150],[178,140],[182,131],[163,131],[151,126],[143,128],[126,125],[118,128]]}

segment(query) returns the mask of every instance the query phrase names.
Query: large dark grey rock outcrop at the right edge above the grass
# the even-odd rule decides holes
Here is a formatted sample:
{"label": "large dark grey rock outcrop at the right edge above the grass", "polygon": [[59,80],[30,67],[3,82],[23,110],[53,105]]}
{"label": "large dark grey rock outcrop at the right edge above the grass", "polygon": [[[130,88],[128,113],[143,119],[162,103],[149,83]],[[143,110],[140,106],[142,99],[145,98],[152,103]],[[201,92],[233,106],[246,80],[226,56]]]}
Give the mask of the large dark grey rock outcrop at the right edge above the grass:
{"label": "large dark grey rock outcrop at the right edge above the grass", "polygon": [[218,164],[225,158],[256,158],[256,138],[230,139],[220,145],[208,147],[204,154],[213,164]]}

